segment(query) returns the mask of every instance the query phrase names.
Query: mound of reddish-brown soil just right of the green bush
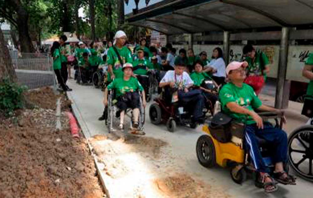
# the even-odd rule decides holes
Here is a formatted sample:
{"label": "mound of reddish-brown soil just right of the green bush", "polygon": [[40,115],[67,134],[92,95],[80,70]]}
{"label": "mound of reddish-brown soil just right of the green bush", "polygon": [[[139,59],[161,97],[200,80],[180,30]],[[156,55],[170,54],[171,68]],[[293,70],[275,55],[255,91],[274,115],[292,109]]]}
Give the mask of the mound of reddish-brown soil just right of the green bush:
{"label": "mound of reddish-brown soil just right of the green bush", "polygon": [[43,109],[56,109],[56,101],[59,95],[54,94],[51,87],[43,87],[36,90],[30,90],[24,92],[24,97],[27,102],[34,106],[38,106]]}

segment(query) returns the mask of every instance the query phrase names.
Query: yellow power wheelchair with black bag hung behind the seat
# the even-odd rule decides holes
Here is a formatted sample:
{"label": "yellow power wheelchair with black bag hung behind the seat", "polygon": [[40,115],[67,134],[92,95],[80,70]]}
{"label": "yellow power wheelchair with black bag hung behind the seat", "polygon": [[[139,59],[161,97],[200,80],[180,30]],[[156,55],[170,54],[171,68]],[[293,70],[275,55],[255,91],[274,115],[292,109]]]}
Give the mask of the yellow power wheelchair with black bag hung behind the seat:
{"label": "yellow power wheelchair with black bag hung behind the seat", "polygon": [[[207,122],[202,127],[206,133],[198,138],[196,144],[196,153],[199,163],[207,168],[215,165],[231,167],[230,176],[235,183],[242,184],[247,177],[247,172],[255,172],[251,162],[249,151],[244,149],[244,131],[243,123],[233,122],[231,118],[224,117],[222,113],[215,115],[220,125]],[[214,116],[214,117],[215,117]],[[264,122],[272,126],[282,128],[283,113],[262,112],[259,113]],[[214,119],[213,117],[213,119]],[[275,121],[274,123],[273,120]],[[264,163],[270,173],[273,173],[275,166],[271,162],[271,145],[264,139],[256,137],[259,142],[259,148]],[[289,172],[289,163],[284,164],[284,169]],[[261,187],[261,186],[258,186]]]}

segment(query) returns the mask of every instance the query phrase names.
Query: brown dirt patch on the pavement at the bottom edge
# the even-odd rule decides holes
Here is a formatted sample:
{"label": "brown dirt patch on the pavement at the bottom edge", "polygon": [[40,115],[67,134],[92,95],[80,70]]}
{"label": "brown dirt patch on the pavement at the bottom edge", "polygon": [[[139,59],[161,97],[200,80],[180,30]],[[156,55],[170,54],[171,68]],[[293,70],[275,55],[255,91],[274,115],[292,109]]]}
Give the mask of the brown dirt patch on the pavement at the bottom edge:
{"label": "brown dirt patch on the pavement at the bottom edge", "polygon": [[186,174],[175,174],[162,179],[156,179],[157,190],[171,198],[230,198],[222,189],[213,189],[202,181],[196,181]]}

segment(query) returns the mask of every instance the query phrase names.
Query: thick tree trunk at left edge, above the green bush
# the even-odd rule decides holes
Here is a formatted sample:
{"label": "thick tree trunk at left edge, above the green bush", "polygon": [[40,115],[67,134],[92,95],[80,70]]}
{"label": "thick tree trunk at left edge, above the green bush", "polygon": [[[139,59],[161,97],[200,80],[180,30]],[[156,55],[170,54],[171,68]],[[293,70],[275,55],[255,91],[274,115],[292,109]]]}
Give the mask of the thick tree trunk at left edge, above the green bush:
{"label": "thick tree trunk at left edge, above the green bush", "polygon": [[0,29],[0,81],[5,77],[8,77],[12,82],[17,82],[10,53]]}

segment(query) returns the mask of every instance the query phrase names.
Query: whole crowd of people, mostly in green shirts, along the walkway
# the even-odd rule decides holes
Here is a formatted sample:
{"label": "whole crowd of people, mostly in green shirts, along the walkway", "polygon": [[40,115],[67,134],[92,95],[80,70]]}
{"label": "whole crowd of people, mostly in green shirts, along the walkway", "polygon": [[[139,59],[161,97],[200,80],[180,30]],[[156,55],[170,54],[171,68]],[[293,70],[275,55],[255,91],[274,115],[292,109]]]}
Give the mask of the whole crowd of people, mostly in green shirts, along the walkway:
{"label": "whole crowd of people, mostly in green shirts, along the walkway", "polygon": [[[216,47],[212,57],[203,51],[196,55],[193,49],[176,49],[168,43],[165,47],[157,49],[149,46],[142,38],[138,46],[131,50],[125,45],[127,36],[125,32],[118,31],[113,42],[103,43],[101,47],[95,42],[87,47],[79,42],[78,47],[65,45],[66,36],[62,35],[59,42],[54,42],[51,55],[54,58],[54,71],[60,87],[64,91],[71,91],[66,85],[70,77],[70,67],[77,62],[77,66],[85,80],[90,80],[89,75],[99,68],[107,73],[107,87],[104,92],[103,103],[108,104],[108,92],[116,90],[115,99],[119,109],[116,116],[120,118],[119,129],[124,129],[124,117],[127,108],[132,109],[133,127],[138,127],[140,97],[142,105],[146,107],[146,97],[149,96],[149,75],[154,74],[159,88],[172,88],[171,102],[183,101],[185,105],[193,106],[192,119],[194,122],[203,123],[205,101],[209,100],[213,106],[220,101],[221,109],[235,121],[246,125],[245,145],[250,151],[250,156],[255,169],[259,172],[257,182],[261,183],[266,192],[277,190],[275,183],[295,185],[295,180],[283,168],[287,161],[287,136],[280,129],[263,123],[262,118],[255,111],[281,112],[279,109],[262,104],[258,95],[266,82],[270,71],[269,60],[265,53],[256,51],[252,45],[243,48],[244,62],[231,62],[226,67],[223,51]],[[304,69],[304,76],[312,78],[312,57],[309,57]],[[205,87],[203,82],[210,80],[219,87],[219,92],[214,92]],[[312,81],[310,82],[312,85]],[[312,87],[312,86],[309,86]],[[173,91],[174,90],[174,91]],[[313,95],[312,89],[308,91]],[[312,116],[312,107],[305,104],[304,114]],[[99,120],[106,117],[106,109]],[[258,148],[256,137],[261,137],[273,144],[274,175],[270,176],[266,170]]]}

